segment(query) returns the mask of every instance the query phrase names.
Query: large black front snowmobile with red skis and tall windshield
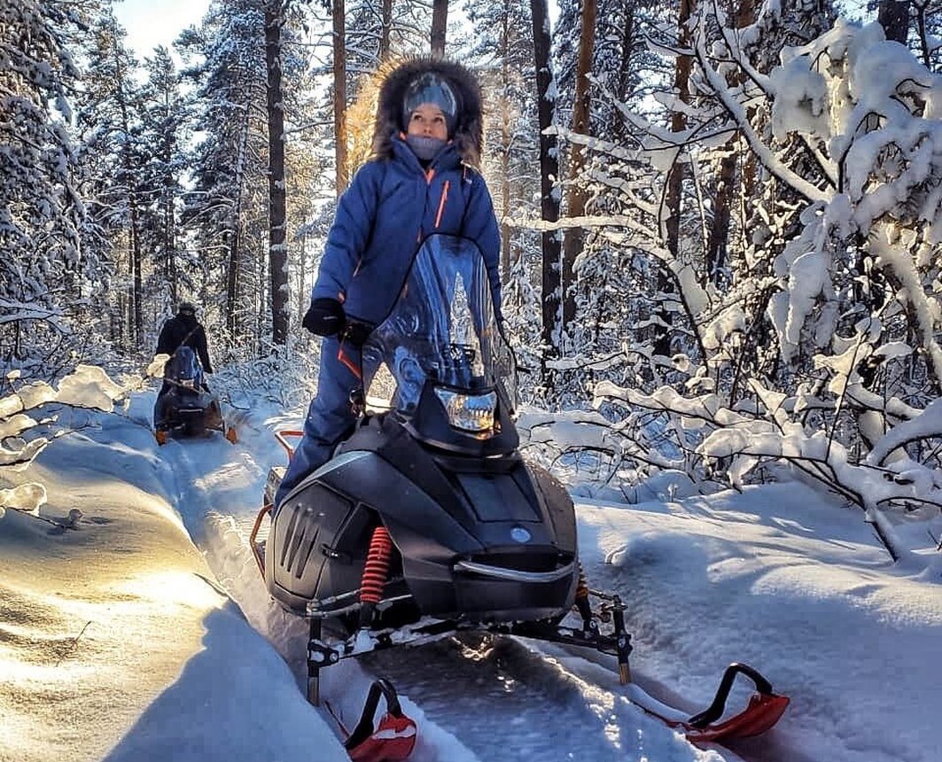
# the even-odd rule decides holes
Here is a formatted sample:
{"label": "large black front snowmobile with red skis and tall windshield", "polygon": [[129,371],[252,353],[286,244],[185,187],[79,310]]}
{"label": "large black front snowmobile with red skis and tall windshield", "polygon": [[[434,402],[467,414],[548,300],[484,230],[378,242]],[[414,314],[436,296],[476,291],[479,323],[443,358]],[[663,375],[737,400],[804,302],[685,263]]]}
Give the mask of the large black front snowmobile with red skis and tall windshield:
{"label": "large black front snowmobile with red skis and tall windshield", "polygon": [[[625,604],[589,589],[572,499],[519,452],[515,361],[477,246],[427,238],[359,357],[344,340],[340,352],[363,381],[350,397],[357,423],[277,510],[284,467],[271,469],[250,540],[268,592],[309,620],[308,700],[319,704],[320,671],[341,659],[463,631],[594,649],[630,682]],[[289,458],[292,434],[276,434]],[[717,723],[739,674],[755,683],[753,699]],[[372,732],[381,695],[388,711]],[[641,695],[632,686],[631,700]],[[767,730],[788,698],[734,664],[699,715],[647,704],[690,738],[716,740]],[[410,723],[388,681],[374,684],[351,757],[405,758]]]}

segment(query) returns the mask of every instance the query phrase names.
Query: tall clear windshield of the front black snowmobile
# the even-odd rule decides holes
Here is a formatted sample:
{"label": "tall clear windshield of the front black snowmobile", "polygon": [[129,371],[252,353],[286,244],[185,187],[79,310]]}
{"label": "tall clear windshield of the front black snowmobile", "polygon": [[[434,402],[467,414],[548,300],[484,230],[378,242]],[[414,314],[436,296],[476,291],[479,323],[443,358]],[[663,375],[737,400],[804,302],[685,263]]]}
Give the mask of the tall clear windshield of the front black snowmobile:
{"label": "tall clear windshield of the front black snowmobile", "polygon": [[374,369],[367,390],[373,407],[411,413],[427,381],[442,394],[481,396],[499,387],[516,403],[516,366],[500,332],[487,268],[477,245],[430,235],[392,311],[364,346]]}

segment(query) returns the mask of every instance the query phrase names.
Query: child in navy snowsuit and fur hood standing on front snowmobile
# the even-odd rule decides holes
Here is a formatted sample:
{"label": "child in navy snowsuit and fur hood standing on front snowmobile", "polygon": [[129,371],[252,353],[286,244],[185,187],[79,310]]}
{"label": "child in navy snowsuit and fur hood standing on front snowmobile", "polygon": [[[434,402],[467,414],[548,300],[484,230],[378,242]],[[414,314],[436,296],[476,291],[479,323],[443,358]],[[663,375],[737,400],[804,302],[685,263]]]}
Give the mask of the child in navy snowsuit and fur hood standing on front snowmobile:
{"label": "child in navy snowsuit and fur hood standing on front snowmobile", "polygon": [[462,235],[478,245],[500,316],[500,235],[491,194],[475,169],[482,133],[480,88],[460,64],[419,58],[383,81],[373,158],[338,203],[302,322],[325,337],[317,396],[275,495],[276,509],[330,459],[354,422],[349,395],[360,381],[350,366],[357,365],[356,348],[367,337],[363,325],[375,326],[388,314],[427,235]]}

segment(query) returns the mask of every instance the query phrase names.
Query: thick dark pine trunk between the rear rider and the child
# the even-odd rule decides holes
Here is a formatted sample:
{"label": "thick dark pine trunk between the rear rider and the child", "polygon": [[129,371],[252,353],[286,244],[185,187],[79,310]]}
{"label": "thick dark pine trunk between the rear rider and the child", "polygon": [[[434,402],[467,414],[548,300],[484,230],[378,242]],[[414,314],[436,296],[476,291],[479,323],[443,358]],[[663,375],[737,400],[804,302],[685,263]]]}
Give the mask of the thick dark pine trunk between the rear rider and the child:
{"label": "thick dark pine trunk between the rear rider and the child", "polygon": [[284,198],[284,103],[282,95],[282,0],[265,6],[265,64],[268,69],[268,275],[271,283],[271,340],[288,333],[288,263]]}

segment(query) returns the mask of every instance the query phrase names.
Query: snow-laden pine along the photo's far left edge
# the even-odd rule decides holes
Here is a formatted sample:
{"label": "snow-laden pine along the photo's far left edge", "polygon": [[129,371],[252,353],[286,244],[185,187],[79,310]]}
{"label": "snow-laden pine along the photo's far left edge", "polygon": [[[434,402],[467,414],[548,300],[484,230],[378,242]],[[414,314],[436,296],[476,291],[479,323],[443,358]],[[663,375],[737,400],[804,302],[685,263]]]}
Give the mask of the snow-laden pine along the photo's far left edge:
{"label": "snow-laden pine along the photo's far left edge", "polygon": [[73,362],[85,337],[72,317],[100,276],[82,248],[91,232],[66,130],[79,76],[70,43],[86,21],[78,7],[0,0],[0,366],[27,378]]}

